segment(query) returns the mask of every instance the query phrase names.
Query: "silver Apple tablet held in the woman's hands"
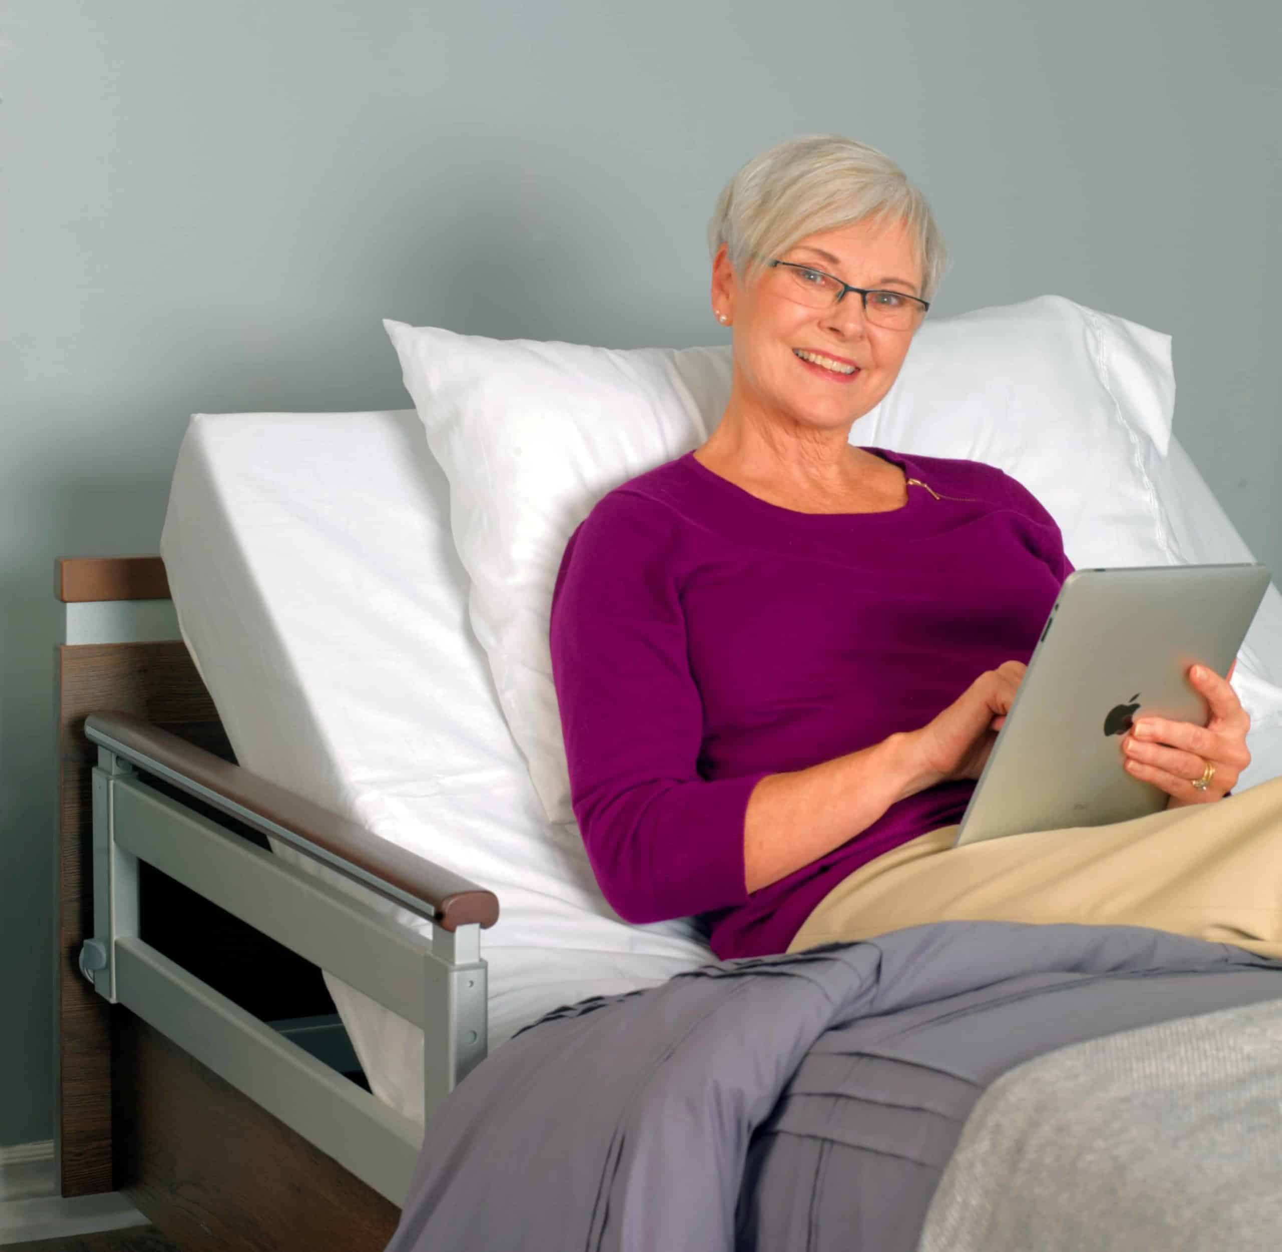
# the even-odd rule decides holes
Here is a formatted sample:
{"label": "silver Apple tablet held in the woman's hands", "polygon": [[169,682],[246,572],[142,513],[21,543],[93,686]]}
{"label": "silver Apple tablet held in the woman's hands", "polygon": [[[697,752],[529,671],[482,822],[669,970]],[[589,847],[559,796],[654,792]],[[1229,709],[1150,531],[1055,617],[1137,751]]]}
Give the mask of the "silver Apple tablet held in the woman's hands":
{"label": "silver Apple tablet held in the woman's hands", "polygon": [[1228,672],[1268,585],[1250,563],[1070,573],[954,847],[1165,808],[1165,791],[1126,772],[1119,736],[1145,713],[1206,725],[1188,668]]}

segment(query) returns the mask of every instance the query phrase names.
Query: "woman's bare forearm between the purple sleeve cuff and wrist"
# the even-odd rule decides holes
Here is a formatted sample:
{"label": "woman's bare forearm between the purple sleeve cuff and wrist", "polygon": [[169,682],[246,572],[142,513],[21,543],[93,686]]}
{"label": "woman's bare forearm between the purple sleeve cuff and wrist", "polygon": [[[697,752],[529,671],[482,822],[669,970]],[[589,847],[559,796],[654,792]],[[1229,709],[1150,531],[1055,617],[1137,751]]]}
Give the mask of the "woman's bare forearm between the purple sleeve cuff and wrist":
{"label": "woman's bare forearm between the purple sleeve cuff and wrist", "polygon": [[913,738],[891,735],[809,770],[772,774],[749,797],[744,877],[758,892],[867,830],[896,800],[931,785]]}

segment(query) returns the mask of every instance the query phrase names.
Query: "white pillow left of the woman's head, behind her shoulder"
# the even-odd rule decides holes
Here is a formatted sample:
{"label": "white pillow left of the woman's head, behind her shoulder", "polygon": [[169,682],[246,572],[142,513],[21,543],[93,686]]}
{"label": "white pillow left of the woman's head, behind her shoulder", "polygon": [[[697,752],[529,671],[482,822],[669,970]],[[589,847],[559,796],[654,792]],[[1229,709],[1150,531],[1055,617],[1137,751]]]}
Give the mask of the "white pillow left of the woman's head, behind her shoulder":
{"label": "white pillow left of the woman's head, behind her shoulder", "polygon": [[547,643],[556,570],[601,495],[708,437],[729,394],[729,354],[383,325],[450,480],[469,618],[499,704],[547,820],[573,824]]}

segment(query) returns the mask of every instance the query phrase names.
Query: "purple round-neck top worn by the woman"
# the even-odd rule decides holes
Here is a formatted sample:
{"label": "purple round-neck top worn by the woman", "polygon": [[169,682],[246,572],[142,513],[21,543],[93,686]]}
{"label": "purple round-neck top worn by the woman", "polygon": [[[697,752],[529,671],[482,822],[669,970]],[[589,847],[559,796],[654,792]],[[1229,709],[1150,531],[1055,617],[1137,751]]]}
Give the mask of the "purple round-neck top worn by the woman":
{"label": "purple round-neck top worn by the woman", "polygon": [[624,921],[700,916],[722,960],[785,952],[847,874],[960,821],[974,790],[918,791],[750,893],[756,784],[917,730],[985,670],[1027,663],[1073,570],[1003,471],[864,450],[926,486],[890,512],[800,513],[691,452],[597,500],[556,575],[553,681],[596,880]]}

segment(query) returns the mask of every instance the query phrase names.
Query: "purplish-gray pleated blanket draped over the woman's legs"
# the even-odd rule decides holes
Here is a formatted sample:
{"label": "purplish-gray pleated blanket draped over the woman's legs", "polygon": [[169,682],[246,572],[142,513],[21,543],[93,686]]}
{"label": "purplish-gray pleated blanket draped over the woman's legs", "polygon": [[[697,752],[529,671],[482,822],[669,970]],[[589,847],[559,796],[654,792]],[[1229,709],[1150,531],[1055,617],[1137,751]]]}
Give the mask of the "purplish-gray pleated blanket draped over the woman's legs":
{"label": "purplish-gray pleated blanket draped over the woman's legs", "polygon": [[935,922],[568,1006],[442,1104],[388,1252],[912,1252],[996,1078],[1279,975],[1135,926]]}

